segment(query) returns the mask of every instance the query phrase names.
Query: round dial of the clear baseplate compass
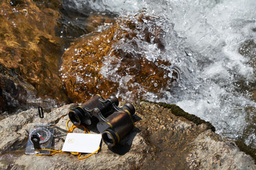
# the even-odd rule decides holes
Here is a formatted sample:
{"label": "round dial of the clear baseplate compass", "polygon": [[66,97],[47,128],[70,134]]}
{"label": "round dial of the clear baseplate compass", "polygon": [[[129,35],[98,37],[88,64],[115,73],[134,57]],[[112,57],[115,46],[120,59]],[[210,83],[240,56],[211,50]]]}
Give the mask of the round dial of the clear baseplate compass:
{"label": "round dial of the clear baseplate compass", "polygon": [[43,143],[46,143],[48,140],[50,140],[51,133],[50,133],[50,130],[46,128],[37,128],[32,130],[32,132],[30,133],[29,135],[30,141],[31,141],[32,135],[37,135],[40,138],[39,144],[43,144]]}

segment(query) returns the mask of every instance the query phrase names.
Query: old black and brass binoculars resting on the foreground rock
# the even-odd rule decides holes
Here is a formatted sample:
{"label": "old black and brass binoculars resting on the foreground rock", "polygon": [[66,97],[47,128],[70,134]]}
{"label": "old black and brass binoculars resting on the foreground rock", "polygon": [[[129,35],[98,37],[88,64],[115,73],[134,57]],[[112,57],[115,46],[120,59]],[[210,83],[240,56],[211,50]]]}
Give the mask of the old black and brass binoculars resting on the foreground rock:
{"label": "old black and brass binoculars resting on the foreground rock", "polygon": [[134,128],[132,115],[135,108],[132,103],[125,103],[122,108],[118,105],[116,96],[104,99],[97,94],[81,106],[72,108],[68,116],[74,125],[92,125],[96,118],[97,130],[102,133],[102,140],[109,147],[114,147]]}

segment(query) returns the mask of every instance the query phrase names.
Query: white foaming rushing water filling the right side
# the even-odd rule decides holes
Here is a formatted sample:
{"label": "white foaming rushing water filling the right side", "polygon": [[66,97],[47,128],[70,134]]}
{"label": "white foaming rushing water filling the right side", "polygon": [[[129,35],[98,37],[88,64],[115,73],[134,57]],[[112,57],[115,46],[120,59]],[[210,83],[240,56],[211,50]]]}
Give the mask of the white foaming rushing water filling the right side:
{"label": "white foaming rushing water filling the right side", "polygon": [[[160,98],[158,94],[144,98],[176,103],[184,111],[210,121],[219,134],[242,137],[247,145],[256,147],[255,67],[251,57],[239,53],[246,40],[256,41],[256,1],[65,2],[80,13],[90,8],[127,17],[146,11],[158,18],[156,24],[165,33],[165,50],[143,42],[140,49],[150,61],[169,60],[180,69],[180,79]],[[131,50],[129,45],[123,47]],[[255,51],[250,53],[255,56]]]}

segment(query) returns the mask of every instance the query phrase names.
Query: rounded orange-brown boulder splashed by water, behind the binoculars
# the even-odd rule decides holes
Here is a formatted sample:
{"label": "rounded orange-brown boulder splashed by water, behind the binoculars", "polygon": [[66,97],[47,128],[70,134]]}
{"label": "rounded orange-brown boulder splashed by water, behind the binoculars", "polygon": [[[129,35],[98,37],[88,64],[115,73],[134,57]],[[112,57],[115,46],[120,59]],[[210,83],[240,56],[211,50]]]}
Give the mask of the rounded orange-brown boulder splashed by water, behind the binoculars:
{"label": "rounded orange-brown boulder splashed by water, behind the binoculars", "polygon": [[60,76],[73,102],[117,91],[136,99],[146,92],[161,95],[160,91],[169,89],[178,78],[178,73],[169,69],[171,63],[146,59],[138,45],[143,41],[164,50],[164,33],[155,18],[143,14],[134,17],[136,22],[118,18],[106,30],[83,36],[65,51]]}

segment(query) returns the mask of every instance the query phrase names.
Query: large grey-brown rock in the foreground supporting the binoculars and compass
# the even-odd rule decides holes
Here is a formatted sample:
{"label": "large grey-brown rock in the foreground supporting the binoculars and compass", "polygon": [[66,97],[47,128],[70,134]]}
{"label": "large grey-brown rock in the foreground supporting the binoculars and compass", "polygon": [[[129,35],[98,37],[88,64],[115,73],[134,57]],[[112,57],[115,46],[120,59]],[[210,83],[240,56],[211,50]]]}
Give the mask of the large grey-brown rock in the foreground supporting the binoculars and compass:
{"label": "large grey-brown rock in the foreground supporting the binoculars and compass", "polygon": [[[73,154],[24,154],[28,130],[40,121],[35,118],[36,109],[0,120],[0,135],[4,136],[0,169],[256,169],[252,158],[240,152],[235,142],[215,134],[208,125],[196,125],[159,103],[134,105],[135,128],[121,144],[110,149],[102,142],[100,152],[84,160]],[[43,119],[44,123],[55,121],[53,149],[63,146],[67,113],[73,106],[53,108]]]}

